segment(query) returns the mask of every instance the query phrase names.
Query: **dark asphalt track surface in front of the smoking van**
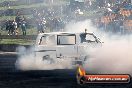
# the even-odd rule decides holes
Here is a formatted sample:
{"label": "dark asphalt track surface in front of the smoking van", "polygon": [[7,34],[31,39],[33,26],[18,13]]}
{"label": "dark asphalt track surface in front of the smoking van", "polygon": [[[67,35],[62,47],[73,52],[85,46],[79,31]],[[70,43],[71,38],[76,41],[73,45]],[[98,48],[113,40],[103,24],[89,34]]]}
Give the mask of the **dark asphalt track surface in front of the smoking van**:
{"label": "dark asphalt track surface in front of the smoking van", "polygon": [[78,85],[76,70],[18,71],[16,59],[16,54],[0,54],[0,88],[132,88],[132,83]]}

